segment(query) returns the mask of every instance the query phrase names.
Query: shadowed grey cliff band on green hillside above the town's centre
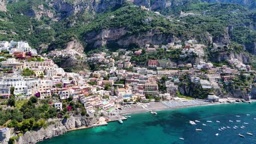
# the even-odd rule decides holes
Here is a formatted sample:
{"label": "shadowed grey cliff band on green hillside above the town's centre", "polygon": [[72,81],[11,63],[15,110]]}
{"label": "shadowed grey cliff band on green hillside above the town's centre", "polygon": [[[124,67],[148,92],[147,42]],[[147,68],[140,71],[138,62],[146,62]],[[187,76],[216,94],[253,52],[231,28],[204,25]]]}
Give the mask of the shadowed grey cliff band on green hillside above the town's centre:
{"label": "shadowed grey cliff band on green hillside above the town's centre", "polygon": [[173,41],[173,35],[160,33],[158,30],[147,31],[134,35],[127,34],[126,28],[102,29],[100,32],[91,32],[85,35],[88,47],[100,47],[104,45],[127,47],[135,44],[142,47],[146,44],[167,44]]}

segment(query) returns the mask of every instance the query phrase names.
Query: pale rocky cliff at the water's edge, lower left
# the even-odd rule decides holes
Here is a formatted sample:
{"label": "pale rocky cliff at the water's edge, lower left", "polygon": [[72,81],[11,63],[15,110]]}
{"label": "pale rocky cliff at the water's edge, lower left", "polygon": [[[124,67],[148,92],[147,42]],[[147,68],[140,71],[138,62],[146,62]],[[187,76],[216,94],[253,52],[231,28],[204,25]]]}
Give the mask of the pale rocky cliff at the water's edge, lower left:
{"label": "pale rocky cliff at the water's edge, lower left", "polygon": [[41,128],[36,131],[27,131],[24,135],[20,136],[17,140],[18,144],[23,143],[37,143],[45,139],[50,139],[51,137],[64,134],[69,129],[79,128],[83,126],[91,125],[95,123],[96,118],[69,118],[63,119],[63,121],[56,120],[54,124],[49,125],[47,128]]}

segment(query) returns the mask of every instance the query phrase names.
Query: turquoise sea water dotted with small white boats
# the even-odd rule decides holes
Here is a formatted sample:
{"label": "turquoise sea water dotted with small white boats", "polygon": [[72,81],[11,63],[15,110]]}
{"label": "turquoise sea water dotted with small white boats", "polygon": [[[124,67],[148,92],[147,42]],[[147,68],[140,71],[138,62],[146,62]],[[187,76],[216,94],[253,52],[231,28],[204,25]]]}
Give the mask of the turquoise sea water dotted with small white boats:
{"label": "turquoise sea water dotted with small white boats", "polygon": [[[71,131],[40,143],[256,143],[254,118],[256,118],[256,103],[189,107],[158,111],[158,115],[149,112],[137,113],[132,114],[123,124],[112,122],[104,127]],[[196,119],[201,123],[189,124],[189,121]],[[244,122],[249,124],[243,124]],[[207,126],[203,126],[202,123]],[[233,129],[234,125],[239,128]],[[245,125],[246,128],[241,129],[241,125]],[[231,129],[218,130],[227,126]],[[202,131],[195,131],[196,128]],[[247,135],[247,132],[254,135]],[[219,135],[216,136],[216,133]],[[245,137],[239,137],[239,133]],[[179,137],[183,137],[184,140],[179,140]]]}

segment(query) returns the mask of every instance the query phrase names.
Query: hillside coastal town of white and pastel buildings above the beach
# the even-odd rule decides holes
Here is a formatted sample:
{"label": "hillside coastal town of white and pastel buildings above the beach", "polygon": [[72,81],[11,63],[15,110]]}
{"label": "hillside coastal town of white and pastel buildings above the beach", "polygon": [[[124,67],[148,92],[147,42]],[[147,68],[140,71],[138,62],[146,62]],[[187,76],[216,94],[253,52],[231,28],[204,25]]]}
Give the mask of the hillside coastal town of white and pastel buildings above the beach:
{"label": "hillside coastal town of white and pastel buildings above the beach", "polygon": [[[80,61],[97,68],[72,73],[55,64],[57,58],[38,55],[27,41],[0,41],[1,109],[19,107],[36,97],[56,111],[49,118],[98,116],[95,127],[126,119],[127,113],[251,101],[255,85],[251,66],[235,57],[223,63],[207,61],[207,47],[191,39],[95,52]],[[211,51],[223,49],[229,47],[211,44]],[[158,58],[164,53],[170,57]],[[140,59],[145,55],[146,61]],[[9,128],[9,123],[2,124],[0,141],[25,132]]]}

